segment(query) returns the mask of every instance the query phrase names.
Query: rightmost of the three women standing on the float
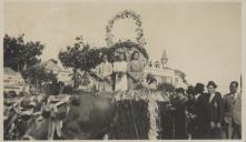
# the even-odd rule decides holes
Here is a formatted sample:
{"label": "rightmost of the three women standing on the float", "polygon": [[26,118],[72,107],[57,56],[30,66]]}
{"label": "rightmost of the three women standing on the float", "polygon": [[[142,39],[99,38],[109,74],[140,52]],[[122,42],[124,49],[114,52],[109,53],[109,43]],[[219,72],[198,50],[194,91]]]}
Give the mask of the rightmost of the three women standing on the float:
{"label": "rightmost of the three women standing on the float", "polygon": [[139,52],[135,51],[131,55],[130,62],[128,63],[128,90],[135,90],[137,84],[142,78],[145,64],[139,59]]}

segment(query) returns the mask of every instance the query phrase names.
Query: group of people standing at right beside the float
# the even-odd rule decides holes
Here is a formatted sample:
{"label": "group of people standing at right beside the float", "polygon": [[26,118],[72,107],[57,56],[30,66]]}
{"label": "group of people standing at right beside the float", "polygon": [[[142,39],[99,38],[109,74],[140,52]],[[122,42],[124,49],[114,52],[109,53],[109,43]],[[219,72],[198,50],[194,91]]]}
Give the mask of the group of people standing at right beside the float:
{"label": "group of people standing at right beside the float", "polygon": [[217,84],[197,83],[186,91],[176,89],[171,104],[175,139],[240,139],[242,97],[238,82],[232,81],[229,93],[222,95]]}

